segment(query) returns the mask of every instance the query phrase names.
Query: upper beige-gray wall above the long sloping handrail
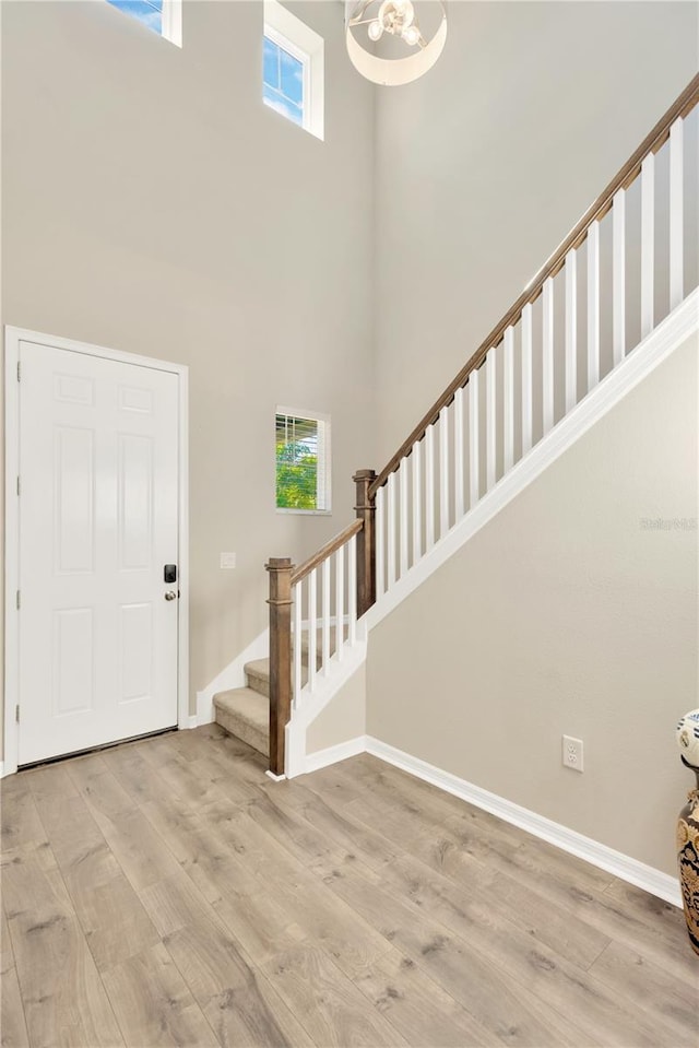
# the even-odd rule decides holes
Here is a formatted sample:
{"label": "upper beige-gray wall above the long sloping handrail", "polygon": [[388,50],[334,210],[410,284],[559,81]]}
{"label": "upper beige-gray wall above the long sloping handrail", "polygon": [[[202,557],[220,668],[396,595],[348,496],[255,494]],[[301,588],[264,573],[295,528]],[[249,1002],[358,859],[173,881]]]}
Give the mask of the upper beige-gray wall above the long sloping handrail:
{"label": "upper beige-gray wall above the long sloping handrail", "polygon": [[691,80],[698,20],[451,3],[435,68],[378,93],[378,467]]}

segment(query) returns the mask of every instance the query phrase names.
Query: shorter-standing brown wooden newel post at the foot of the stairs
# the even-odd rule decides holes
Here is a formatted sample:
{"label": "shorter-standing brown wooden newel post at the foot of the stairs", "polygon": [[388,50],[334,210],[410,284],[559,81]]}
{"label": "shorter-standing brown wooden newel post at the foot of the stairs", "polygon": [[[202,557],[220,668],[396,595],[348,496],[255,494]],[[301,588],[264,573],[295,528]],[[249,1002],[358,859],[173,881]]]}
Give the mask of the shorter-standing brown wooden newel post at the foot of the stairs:
{"label": "shorter-standing brown wooden newel post at the foot of the stairs", "polygon": [[270,772],[284,775],[284,729],[292,716],[291,557],[270,557]]}

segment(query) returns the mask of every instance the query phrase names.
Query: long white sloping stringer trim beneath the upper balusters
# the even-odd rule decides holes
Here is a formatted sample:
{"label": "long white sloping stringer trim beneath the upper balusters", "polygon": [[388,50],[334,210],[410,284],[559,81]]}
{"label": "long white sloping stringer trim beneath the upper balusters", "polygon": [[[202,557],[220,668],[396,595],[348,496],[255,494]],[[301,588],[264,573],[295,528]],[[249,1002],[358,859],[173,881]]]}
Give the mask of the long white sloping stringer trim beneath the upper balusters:
{"label": "long white sloping stringer trim beneath the upper balusters", "polygon": [[699,289],[695,289],[620,364],[560,419],[542,439],[366,614],[370,632],[477,531],[604,417],[639,382],[699,330]]}

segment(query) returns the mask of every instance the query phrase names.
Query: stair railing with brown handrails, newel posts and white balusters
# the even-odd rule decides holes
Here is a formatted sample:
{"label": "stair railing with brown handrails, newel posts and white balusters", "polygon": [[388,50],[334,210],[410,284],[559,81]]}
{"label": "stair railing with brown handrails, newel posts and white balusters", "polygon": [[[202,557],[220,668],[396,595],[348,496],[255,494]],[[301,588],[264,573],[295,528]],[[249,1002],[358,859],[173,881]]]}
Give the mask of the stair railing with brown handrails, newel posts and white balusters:
{"label": "stair railing with brown handrails, newel posts and white balusters", "polygon": [[[331,671],[331,609],[335,610],[337,645],[332,658],[340,660],[345,625],[352,644],[353,621],[410,572],[696,286],[699,252],[697,231],[686,232],[686,186],[696,220],[699,173],[685,150],[685,132],[692,113],[696,122],[698,102],[699,75],[381,472],[363,470],[355,475],[355,523],[298,569],[288,560],[268,565],[270,742],[275,774],[284,772],[284,727],[292,711],[292,601],[298,658],[293,671],[294,702],[298,704],[304,690],[315,687],[318,659],[320,673]],[[696,145],[697,127],[691,130]],[[337,558],[345,549],[347,555],[342,553],[342,562],[335,560],[333,575],[330,557]],[[305,594],[304,579],[308,579]],[[356,600],[350,596],[355,587]],[[306,684],[303,608],[309,648]]]}

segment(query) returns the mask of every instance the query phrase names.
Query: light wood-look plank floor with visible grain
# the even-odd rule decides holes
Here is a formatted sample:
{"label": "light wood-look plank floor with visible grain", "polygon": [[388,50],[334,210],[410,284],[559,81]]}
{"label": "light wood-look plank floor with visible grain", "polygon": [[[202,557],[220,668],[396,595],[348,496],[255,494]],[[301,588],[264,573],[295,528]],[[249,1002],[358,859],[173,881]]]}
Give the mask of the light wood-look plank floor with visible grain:
{"label": "light wood-look plank floor with visible grain", "polygon": [[699,1044],[679,910],[376,758],[264,767],[210,726],[3,781],[3,1045]]}

